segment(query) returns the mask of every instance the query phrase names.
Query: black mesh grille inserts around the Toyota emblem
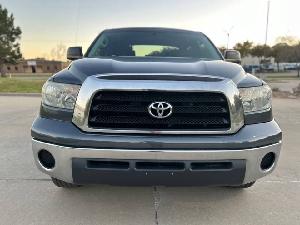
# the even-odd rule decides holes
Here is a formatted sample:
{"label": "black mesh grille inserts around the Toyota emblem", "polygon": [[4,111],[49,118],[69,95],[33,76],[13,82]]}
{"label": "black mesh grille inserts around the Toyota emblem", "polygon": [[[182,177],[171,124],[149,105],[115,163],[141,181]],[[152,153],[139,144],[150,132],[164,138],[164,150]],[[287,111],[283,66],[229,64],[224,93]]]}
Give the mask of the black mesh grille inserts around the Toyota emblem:
{"label": "black mesh grille inserts around the Toyota emblem", "polygon": [[[148,106],[168,102],[173,113],[154,118]],[[226,97],[210,92],[100,91],[89,114],[90,128],[139,130],[208,130],[230,128]]]}

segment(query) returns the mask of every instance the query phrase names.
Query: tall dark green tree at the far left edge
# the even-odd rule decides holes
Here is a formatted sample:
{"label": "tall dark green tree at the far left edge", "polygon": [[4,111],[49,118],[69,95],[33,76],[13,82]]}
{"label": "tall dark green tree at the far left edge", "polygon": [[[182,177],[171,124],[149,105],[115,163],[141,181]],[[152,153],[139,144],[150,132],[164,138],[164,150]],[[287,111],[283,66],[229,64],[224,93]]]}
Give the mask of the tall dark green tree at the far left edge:
{"label": "tall dark green tree at the far left edge", "polygon": [[16,42],[21,38],[20,27],[14,27],[14,18],[8,15],[6,8],[0,5],[0,72],[1,77],[6,77],[4,73],[4,64],[16,64],[18,59],[22,58],[20,53],[20,44]]}

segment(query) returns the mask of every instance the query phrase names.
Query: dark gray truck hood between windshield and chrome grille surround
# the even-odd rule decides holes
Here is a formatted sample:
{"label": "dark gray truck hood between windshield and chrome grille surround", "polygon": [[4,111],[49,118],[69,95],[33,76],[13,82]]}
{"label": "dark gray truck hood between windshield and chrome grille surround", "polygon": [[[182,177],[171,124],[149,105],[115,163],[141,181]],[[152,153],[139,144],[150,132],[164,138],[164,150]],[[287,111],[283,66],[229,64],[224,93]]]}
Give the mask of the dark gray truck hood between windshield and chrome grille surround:
{"label": "dark gray truck hood between windshield and chrome grille surround", "polygon": [[203,61],[196,58],[130,57],[83,58],[50,78],[55,82],[82,84],[88,76],[105,73],[181,73],[230,78],[237,87],[260,86],[262,81],[242,66],[222,60]]}

